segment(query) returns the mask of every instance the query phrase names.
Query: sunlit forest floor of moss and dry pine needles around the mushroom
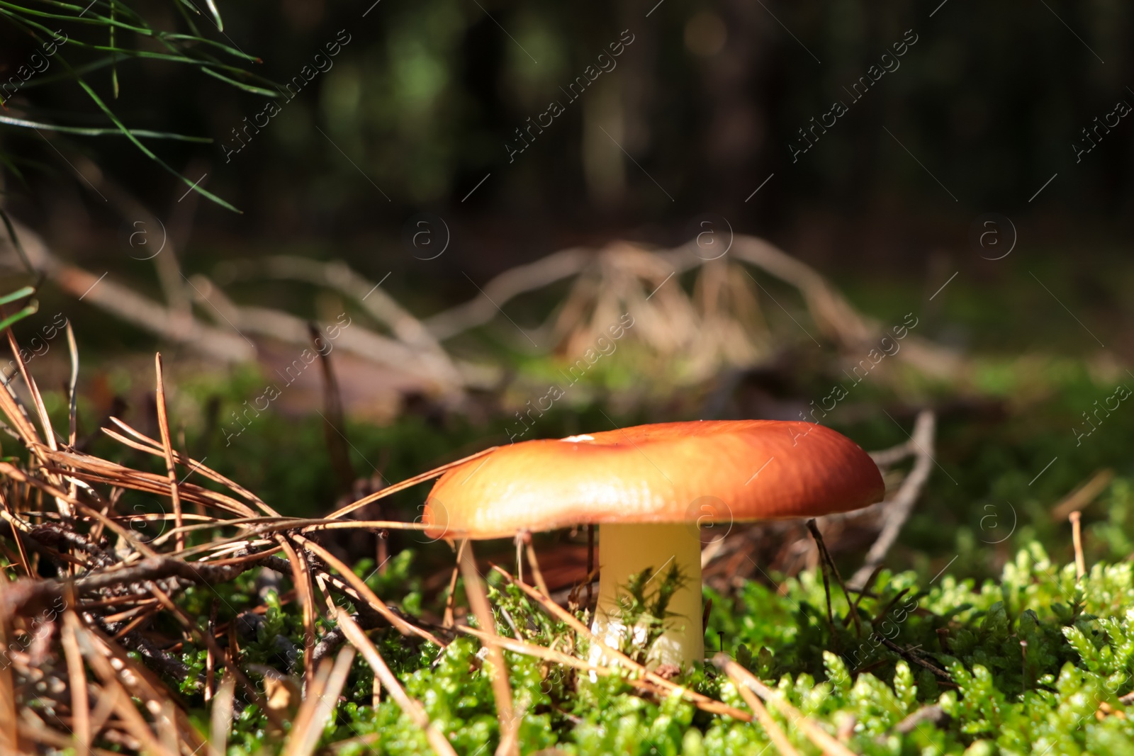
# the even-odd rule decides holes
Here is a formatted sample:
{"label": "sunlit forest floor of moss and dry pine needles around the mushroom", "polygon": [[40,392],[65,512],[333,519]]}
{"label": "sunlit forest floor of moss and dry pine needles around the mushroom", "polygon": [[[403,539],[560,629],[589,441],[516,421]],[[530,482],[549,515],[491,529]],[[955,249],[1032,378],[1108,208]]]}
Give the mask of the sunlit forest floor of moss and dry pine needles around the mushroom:
{"label": "sunlit forest floor of moss and dry pine needles around the mushroom", "polygon": [[[894,313],[904,309],[903,295],[887,297],[872,286],[861,287],[858,297]],[[967,317],[972,331],[996,318],[999,305],[966,294],[959,283],[957,295],[964,303],[960,320]],[[1110,352],[1061,356],[1017,335],[1015,343],[995,348],[973,337],[963,382],[898,373],[864,383],[832,413],[833,427],[873,451],[906,443],[919,411],[934,411],[929,479],[885,569],[864,591],[848,591],[831,570],[820,569],[820,552],[803,524],[781,529],[737,524],[728,536],[731,553],[746,550],[752,567],[737,570],[733,562],[718,562],[714,572],[714,562],[706,564],[705,648],[720,655],[692,673],[659,681],[633,663],[595,668],[585,661],[591,643],[579,628],[590,623],[585,601],[579,605],[559,596],[564,601],[556,603],[514,580],[507,571],[516,571],[515,550],[505,542],[477,544],[497,635],[482,646],[477,628],[485,625],[467,609],[481,588],[469,595],[457,579],[449,545],[393,529],[382,540],[370,532],[314,538],[350,570],[338,569],[322,552],[285,553],[285,547],[279,554],[287,559],[273,562],[280,570],[274,575],[249,562],[226,579],[205,580],[211,585],[185,581],[164,568],[136,578],[158,579],[155,585],[176,593],[168,600],[176,608],[170,611],[162,611],[170,608],[166,600],[146,598],[107,619],[105,610],[95,611],[96,596],[79,595],[83,603],[76,606],[76,597],[61,588],[61,603],[39,614],[50,612],[42,623],[58,634],[61,646],[41,647],[36,639],[43,634],[9,621],[3,629],[18,648],[5,665],[7,682],[0,683],[15,691],[9,700],[22,712],[20,737],[56,749],[67,747],[66,733],[92,732],[92,717],[101,734],[91,742],[99,748],[171,753],[180,742],[186,749],[218,738],[217,723],[227,707],[235,722],[221,730],[234,755],[443,750],[439,734],[456,753],[471,755],[497,750],[501,738],[502,750],[510,751],[514,742],[524,754],[755,754],[768,748],[785,755],[793,749],[1134,754],[1134,721],[1126,714],[1134,703],[1134,465],[1128,451],[1134,411],[1125,401],[1134,375]],[[624,349],[619,359],[587,376],[586,391],[541,414],[533,435],[691,419],[706,408],[720,417],[784,414],[823,396],[832,380],[829,365],[816,366],[788,349],[778,366],[743,371],[731,383],[674,390],[665,380],[642,379],[633,348]],[[185,547],[239,561],[242,552],[219,551],[231,530],[211,520],[208,507],[219,501],[238,513],[240,507],[263,503],[274,509],[273,518],[325,517],[389,482],[506,440],[514,410],[524,406],[524,397],[540,396],[533,391],[560,369],[557,360],[516,359],[519,380],[501,393],[475,398],[472,411],[451,413],[418,398],[384,424],[332,425],[325,415],[280,408],[257,413],[231,436],[222,430],[226,423],[235,427],[227,418],[262,393],[269,379],[261,371],[167,375],[168,396],[160,404],[168,402],[170,432],[150,409],[153,363],[116,358],[98,368],[98,380],[87,381],[78,415],[101,417],[115,405],[109,397],[125,398],[115,414],[138,428],[138,435],[118,428],[134,445],[90,433],[76,461],[29,442],[35,428],[20,430],[9,415],[24,449],[6,449],[11,455],[3,461],[6,496],[28,507],[35,495],[40,503],[51,496],[71,501],[79,495],[74,485],[29,494],[19,482],[20,470],[35,459],[46,468],[71,466],[73,477],[85,484],[117,486],[121,493],[113,506],[127,513],[117,520],[120,528],[125,524],[117,545],[110,538],[74,551],[73,543],[73,553],[113,559],[124,540],[133,538],[169,554],[172,509],[161,481],[164,457],[171,455],[177,477],[197,486],[183,494],[181,507],[211,523],[189,532]],[[725,401],[722,383],[728,385]],[[43,413],[54,427],[67,427],[66,393],[44,389]],[[911,464],[916,462],[892,466],[891,494]],[[71,479],[57,483],[66,489]],[[369,518],[412,523],[422,501],[424,489],[401,491],[381,500]],[[820,528],[839,572],[855,572],[872,535],[822,521]],[[100,536],[110,529],[100,527]],[[24,535],[39,543],[27,558],[29,570],[56,577],[49,564],[67,551],[60,536],[42,529]],[[2,538],[5,566],[15,579],[26,557],[11,530]],[[585,529],[536,535],[534,552],[552,595],[583,581]],[[720,552],[727,560],[730,550]],[[491,569],[490,560],[501,569]],[[293,571],[297,566],[299,571]],[[303,575],[304,567],[313,579],[296,584],[293,576]],[[456,588],[451,596],[450,586]],[[39,605],[15,594],[9,586],[0,601],[20,606],[25,619],[35,618]],[[381,597],[392,614],[374,617],[369,595]],[[100,631],[79,627],[76,610],[95,611]],[[353,627],[344,630],[344,622]],[[344,632],[349,644],[342,644]],[[493,685],[496,652],[486,653],[498,643],[508,670],[507,704],[499,677]],[[128,653],[121,652],[118,669],[134,669],[145,685],[138,687],[138,678],[116,682],[112,672],[104,676],[107,670],[90,661],[99,654],[113,657],[124,647]],[[315,659],[307,659],[305,647]],[[636,659],[648,653],[626,651]],[[75,708],[71,685],[76,669],[82,670],[78,656],[92,665],[88,695],[112,702],[105,707],[91,703],[85,717]],[[374,682],[382,674],[375,672],[374,656],[384,660],[396,686],[393,679]],[[244,677],[230,673],[229,664]],[[753,721],[747,687],[753,679],[768,686],[762,689],[768,714],[755,712],[763,723]],[[301,694],[304,685],[306,695]],[[137,706],[108,694],[122,686]],[[313,696],[313,690],[324,695]],[[321,708],[319,700],[329,703]],[[502,705],[513,708],[511,717],[501,715]],[[171,714],[175,708],[184,716]],[[152,744],[143,730],[155,733],[149,736]]]}

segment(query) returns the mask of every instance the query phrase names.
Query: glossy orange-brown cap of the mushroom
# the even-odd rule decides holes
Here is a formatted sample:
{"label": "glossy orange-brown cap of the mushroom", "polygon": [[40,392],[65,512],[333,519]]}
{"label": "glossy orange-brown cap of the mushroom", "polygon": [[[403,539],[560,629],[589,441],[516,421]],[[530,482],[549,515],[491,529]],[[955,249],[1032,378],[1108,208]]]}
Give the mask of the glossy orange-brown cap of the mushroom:
{"label": "glossy orange-brown cap of the mushroom", "polygon": [[422,521],[431,537],[497,538],[581,524],[765,520],[882,499],[878,466],[823,425],[658,423],[525,441],[448,470]]}

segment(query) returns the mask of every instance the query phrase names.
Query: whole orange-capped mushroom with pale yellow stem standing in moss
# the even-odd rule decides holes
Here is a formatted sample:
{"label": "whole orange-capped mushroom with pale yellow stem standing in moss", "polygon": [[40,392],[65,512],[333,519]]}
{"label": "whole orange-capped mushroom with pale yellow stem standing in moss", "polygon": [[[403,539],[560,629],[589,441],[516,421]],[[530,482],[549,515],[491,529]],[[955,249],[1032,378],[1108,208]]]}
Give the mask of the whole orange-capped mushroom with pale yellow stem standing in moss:
{"label": "whole orange-capped mushroom with pale yellow stem standing in moss", "polygon": [[865,507],[882,493],[866,452],[823,425],[659,423],[500,447],[441,476],[422,521],[432,537],[466,538],[598,524],[592,630],[612,647],[627,632],[646,635],[646,620],[633,628],[621,622],[619,594],[631,577],[649,569],[653,580],[676,564],[683,579],[667,618],[657,618],[665,631],[648,662],[684,670],[704,656],[702,524],[818,517]]}

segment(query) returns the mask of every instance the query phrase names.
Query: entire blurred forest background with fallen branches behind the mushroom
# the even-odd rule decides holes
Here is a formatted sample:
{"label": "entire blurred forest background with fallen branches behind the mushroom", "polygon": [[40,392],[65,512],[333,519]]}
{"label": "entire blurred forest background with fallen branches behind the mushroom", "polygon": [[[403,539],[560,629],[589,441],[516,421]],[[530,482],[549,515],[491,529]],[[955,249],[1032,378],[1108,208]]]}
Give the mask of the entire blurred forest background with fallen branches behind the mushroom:
{"label": "entire blurred forest background with fallen branches behind the mushroom", "polygon": [[[937,413],[931,483],[896,558],[932,575],[964,554],[954,569],[980,575],[1022,540],[1066,545],[1052,507],[1092,481],[1092,500],[1111,498],[1100,528],[1117,527],[1090,547],[1132,551],[1131,410],[1092,424],[1101,439],[1074,430],[1134,381],[1129,5],[257,0],[218,3],[222,29],[204,0],[84,5],[0,5],[0,79],[22,82],[0,83],[0,176],[33,266],[51,270],[17,334],[71,322],[87,434],[112,414],[152,427],[160,348],[195,456],[281,510],[329,510],[372,473],[364,486],[506,443],[615,304],[644,308],[632,338],[525,438],[796,418],[908,314],[931,358],[881,364],[824,421],[880,449]],[[167,39],[179,59],[163,60],[137,33],[150,27],[202,40]],[[68,41],[25,80],[54,29]],[[636,256],[704,252],[706,231],[713,250],[768,239],[811,273]],[[485,294],[572,248],[606,252],[507,301]],[[10,290],[37,282],[9,257]],[[363,282],[382,294],[357,296]],[[850,321],[823,320],[826,291]],[[499,312],[449,309],[477,299]],[[356,343],[335,380],[312,371],[247,422],[303,348],[296,324],[340,315],[359,324],[344,333],[370,323],[457,371],[459,390]],[[62,339],[34,369],[66,383]],[[65,393],[49,400],[66,413]]]}

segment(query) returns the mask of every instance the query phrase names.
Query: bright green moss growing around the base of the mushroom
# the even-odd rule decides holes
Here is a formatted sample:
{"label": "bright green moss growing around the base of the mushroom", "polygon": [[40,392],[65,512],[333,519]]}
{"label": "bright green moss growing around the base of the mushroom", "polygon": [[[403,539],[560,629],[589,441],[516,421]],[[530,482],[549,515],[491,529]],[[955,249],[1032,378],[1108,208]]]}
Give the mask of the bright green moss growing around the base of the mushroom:
{"label": "bright green moss growing around the base of the mushroom", "polygon": [[[407,570],[411,560],[391,567],[383,587],[392,589],[391,572]],[[882,572],[871,592],[858,605],[860,635],[854,622],[844,621],[850,608],[838,592],[833,627],[828,623],[822,583],[812,574],[784,579],[779,591],[746,583],[733,598],[706,591],[713,600],[708,639],[721,643],[830,732],[849,733],[847,746],[860,754],[1132,749],[1134,722],[1119,700],[1134,688],[1129,563],[1095,564],[1076,581],[1073,564],[1052,563],[1042,547],[1030,544],[1005,566],[999,580],[978,585],[945,575],[921,586],[913,572]],[[565,625],[539,612],[515,587],[492,585],[489,593],[501,635],[518,630],[528,643],[585,654]],[[272,597],[269,603],[263,637],[244,647],[246,662],[270,661],[269,634],[297,643],[302,637],[297,609]],[[458,637],[442,651],[390,630],[373,637],[407,693],[458,753],[496,749],[496,703],[475,639]],[[880,637],[903,653],[878,643]],[[909,648],[916,651],[905,651]],[[194,665],[203,660],[193,649],[184,657]],[[530,656],[508,652],[506,659],[525,754],[557,747],[568,754],[709,756],[759,753],[770,745],[759,724],[710,715],[677,696],[644,697],[617,676],[592,681]],[[340,753],[426,751],[420,729],[389,696],[378,708],[371,706],[372,679],[357,659],[344,691],[347,703],[339,705],[324,745],[365,737]],[[734,683],[714,668],[699,668],[682,682],[746,708]],[[183,694],[200,703],[198,691]],[[946,716],[898,728],[930,705]],[[773,716],[801,753],[816,753],[797,727],[775,710]],[[264,717],[247,707],[229,753],[277,748],[265,730]]]}

